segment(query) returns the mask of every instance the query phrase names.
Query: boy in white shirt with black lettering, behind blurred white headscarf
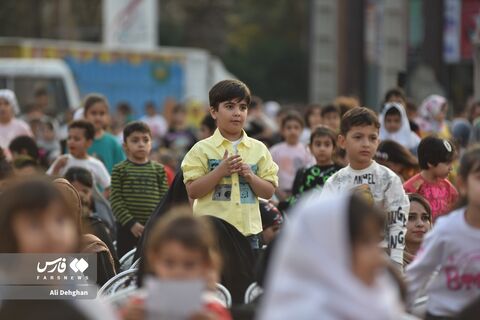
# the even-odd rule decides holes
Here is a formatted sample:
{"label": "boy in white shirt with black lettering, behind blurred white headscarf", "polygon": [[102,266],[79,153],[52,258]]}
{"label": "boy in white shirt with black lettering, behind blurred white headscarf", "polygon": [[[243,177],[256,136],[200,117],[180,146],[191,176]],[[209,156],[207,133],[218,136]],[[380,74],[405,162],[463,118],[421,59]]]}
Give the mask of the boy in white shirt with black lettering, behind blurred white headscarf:
{"label": "boy in white shirt with black lettering, behind blurred white headscarf", "polygon": [[376,114],[367,108],[353,108],[343,116],[338,143],[346,150],[349,165],[327,180],[322,196],[355,189],[383,206],[387,219],[381,246],[401,269],[410,202],[400,178],[372,160],[380,141],[379,128]]}

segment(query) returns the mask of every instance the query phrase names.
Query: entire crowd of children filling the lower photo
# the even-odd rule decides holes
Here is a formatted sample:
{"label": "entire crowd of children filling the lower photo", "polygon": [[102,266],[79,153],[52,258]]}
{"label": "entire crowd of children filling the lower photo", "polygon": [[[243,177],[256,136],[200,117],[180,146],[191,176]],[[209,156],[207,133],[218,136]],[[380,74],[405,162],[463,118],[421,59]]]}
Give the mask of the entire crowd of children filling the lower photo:
{"label": "entire crowd of children filling the lower photo", "polygon": [[136,250],[139,287],[105,318],[475,319],[480,102],[452,122],[446,98],[416,112],[399,88],[378,113],[279,108],[224,80],[196,128],[168,103],[113,123],[92,93],[59,125],[0,90],[0,252],[96,254],[102,286]]}

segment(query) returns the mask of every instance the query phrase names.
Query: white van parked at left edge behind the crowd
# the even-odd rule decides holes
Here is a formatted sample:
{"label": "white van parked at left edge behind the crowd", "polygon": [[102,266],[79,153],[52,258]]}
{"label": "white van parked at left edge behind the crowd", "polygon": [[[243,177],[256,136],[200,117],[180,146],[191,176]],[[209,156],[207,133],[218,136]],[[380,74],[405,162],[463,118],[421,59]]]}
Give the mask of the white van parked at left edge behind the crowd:
{"label": "white van parked at left edge behind the crowd", "polygon": [[17,95],[20,109],[34,102],[38,89],[48,95],[51,115],[59,115],[80,106],[80,95],[72,72],[60,59],[0,58],[0,89],[11,89]]}

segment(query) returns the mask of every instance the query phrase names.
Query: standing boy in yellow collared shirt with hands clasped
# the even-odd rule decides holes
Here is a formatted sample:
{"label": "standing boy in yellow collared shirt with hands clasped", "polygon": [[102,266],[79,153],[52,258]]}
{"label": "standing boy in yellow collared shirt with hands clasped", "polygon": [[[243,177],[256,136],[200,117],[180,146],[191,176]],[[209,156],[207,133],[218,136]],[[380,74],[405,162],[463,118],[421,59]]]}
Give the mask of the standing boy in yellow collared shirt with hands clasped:
{"label": "standing boy in yellow collared shirt with hands clasped", "polygon": [[243,130],[250,99],[250,90],[241,81],[213,86],[210,114],[217,130],[187,153],[182,171],[188,195],[195,199],[194,214],[224,219],[258,248],[262,232],[258,197],[273,196],[278,166],[267,147]]}

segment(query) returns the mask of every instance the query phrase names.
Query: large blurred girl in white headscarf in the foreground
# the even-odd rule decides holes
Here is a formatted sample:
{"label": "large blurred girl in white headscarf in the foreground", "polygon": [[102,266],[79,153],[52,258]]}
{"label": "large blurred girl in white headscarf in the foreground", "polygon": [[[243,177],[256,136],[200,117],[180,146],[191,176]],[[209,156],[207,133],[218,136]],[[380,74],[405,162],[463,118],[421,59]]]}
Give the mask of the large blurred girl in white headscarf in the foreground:
{"label": "large blurred girl in white headscarf in the foreground", "polygon": [[401,318],[378,247],[381,213],[348,193],[308,202],[279,239],[259,319]]}

